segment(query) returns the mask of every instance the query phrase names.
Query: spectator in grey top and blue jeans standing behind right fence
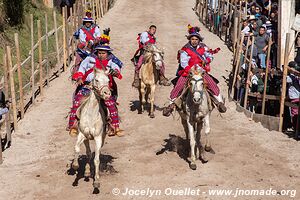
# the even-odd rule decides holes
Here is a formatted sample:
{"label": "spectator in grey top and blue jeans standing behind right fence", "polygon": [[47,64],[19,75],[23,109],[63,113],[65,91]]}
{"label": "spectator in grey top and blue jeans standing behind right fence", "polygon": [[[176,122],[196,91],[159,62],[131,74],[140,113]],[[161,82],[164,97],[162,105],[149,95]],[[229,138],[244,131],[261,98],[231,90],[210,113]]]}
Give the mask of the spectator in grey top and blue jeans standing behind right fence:
{"label": "spectator in grey top and blue jeans standing behind right fence", "polygon": [[260,27],[259,34],[255,39],[259,64],[262,69],[266,68],[266,51],[268,48],[268,41],[269,41],[269,37],[266,34],[266,28],[262,26]]}

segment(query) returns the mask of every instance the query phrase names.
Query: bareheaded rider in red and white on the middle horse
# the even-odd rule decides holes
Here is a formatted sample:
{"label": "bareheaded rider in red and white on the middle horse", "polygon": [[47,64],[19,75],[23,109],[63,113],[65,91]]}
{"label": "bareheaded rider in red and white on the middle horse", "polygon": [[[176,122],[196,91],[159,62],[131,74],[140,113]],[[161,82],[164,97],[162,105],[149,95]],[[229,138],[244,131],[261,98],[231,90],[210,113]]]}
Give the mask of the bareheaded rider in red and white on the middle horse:
{"label": "bareheaded rider in red and white on the middle horse", "polygon": [[[144,60],[144,56],[143,56],[144,48],[147,46],[147,44],[156,44],[156,37],[154,36],[155,33],[156,33],[156,26],[151,25],[148,31],[140,33],[137,38],[139,43],[139,48],[135,52],[133,58],[131,59],[131,61],[135,65],[134,80],[132,83],[132,86],[135,88],[139,88],[140,85],[139,72]],[[161,67],[160,69],[159,84],[164,86],[171,85],[171,83],[165,77],[165,66]]]}

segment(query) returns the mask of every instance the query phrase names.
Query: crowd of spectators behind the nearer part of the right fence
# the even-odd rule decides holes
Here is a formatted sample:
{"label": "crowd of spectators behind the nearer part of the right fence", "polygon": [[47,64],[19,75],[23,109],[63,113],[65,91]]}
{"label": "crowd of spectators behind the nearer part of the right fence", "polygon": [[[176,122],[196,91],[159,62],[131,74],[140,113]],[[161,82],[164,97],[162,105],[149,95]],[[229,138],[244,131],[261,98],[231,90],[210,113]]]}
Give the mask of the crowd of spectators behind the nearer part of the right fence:
{"label": "crowd of spectators behind the nearer part of the right fence", "polygon": [[[246,7],[245,1],[241,6]],[[266,94],[269,95],[268,97],[270,98],[267,98],[266,101],[265,114],[279,116],[280,103],[276,97],[281,95],[283,67],[277,63],[278,2],[273,0],[253,0],[248,1],[247,8],[247,15],[245,15],[246,17],[243,19],[242,29],[240,30],[240,33],[244,33],[245,37],[235,85],[235,99],[240,102],[242,106],[244,105],[245,91],[248,84],[250,95],[246,102],[246,108],[251,112],[261,113],[265,72],[266,68],[268,68],[269,74]],[[270,56],[268,57],[269,62],[267,62],[269,42]],[[288,116],[293,128],[295,128],[297,122],[298,108],[295,107],[295,105],[299,103],[300,94],[300,35],[298,35],[298,42],[296,42],[295,46],[297,56],[294,61],[289,63],[289,66],[294,70],[289,72],[287,78],[287,100],[294,103],[294,107],[286,107],[287,109],[285,109],[285,116]],[[251,58],[250,52],[252,52]],[[245,57],[248,58],[248,61]],[[249,60],[251,64],[249,64]],[[247,81],[249,66],[251,66],[250,77]]]}

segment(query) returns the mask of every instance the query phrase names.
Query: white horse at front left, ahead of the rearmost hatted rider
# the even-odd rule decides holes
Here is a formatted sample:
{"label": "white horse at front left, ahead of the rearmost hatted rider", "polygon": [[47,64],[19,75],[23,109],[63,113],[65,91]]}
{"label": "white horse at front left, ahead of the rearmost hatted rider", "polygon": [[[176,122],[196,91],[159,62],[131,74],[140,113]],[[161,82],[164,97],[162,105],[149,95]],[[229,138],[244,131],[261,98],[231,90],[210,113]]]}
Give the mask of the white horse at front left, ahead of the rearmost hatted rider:
{"label": "white horse at front left, ahead of the rearmost hatted rider", "polygon": [[105,100],[111,96],[109,89],[108,71],[94,69],[94,79],[92,81],[92,88],[90,96],[85,100],[77,111],[79,118],[78,136],[75,145],[75,158],[72,163],[72,168],[77,170],[79,168],[78,156],[80,153],[80,145],[84,142],[86,147],[86,154],[88,162],[85,166],[85,177],[91,175],[90,159],[92,157],[89,140],[95,140],[95,181],[94,188],[100,187],[100,149],[104,144],[106,136],[106,118],[104,109],[100,103],[101,99]]}

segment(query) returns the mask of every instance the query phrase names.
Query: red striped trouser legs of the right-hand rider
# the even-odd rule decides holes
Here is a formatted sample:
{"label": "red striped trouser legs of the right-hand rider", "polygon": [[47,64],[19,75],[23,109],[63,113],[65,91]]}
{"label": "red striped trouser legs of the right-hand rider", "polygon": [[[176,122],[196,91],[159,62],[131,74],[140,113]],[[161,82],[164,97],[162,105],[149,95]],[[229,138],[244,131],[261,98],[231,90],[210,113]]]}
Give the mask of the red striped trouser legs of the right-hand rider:
{"label": "red striped trouser legs of the right-hand rider", "polygon": [[[210,92],[218,96],[220,94],[220,89],[216,82],[212,79],[212,77],[208,73],[204,73],[202,75],[204,81],[207,83],[207,88],[210,90]],[[179,97],[184,89],[185,84],[188,81],[188,77],[180,76],[175,87],[172,89],[171,94],[170,94],[170,99],[176,99]]]}

